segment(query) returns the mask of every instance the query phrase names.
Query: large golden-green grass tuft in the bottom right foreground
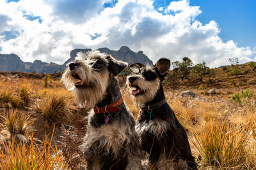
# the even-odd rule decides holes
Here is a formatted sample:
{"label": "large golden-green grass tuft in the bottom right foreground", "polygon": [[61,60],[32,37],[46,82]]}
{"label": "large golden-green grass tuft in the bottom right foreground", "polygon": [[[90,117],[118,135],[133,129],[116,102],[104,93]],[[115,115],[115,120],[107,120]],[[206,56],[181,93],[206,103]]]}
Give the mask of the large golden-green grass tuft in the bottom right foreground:
{"label": "large golden-green grass tuft in the bottom right foreground", "polygon": [[246,159],[250,159],[247,147],[250,131],[246,125],[234,126],[227,120],[207,122],[203,131],[194,136],[192,143],[202,157],[202,167],[243,169]]}

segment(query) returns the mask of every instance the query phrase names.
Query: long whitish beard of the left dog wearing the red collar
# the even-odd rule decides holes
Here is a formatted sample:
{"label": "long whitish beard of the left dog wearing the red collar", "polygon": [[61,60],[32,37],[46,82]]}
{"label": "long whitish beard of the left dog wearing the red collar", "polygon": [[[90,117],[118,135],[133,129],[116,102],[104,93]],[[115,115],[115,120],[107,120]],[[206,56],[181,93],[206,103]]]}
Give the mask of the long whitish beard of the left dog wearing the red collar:
{"label": "long whitish beard of the left dog wearing the red collar", "polygon": [[63,74],[61,81],[65,83],[68,90],[73,90],[77,102],[84,108],[93,108],[93,106],[102,101],[108,87],[109,71],[104,69],[100,72],[90,69],[90,67],[81,66],[76,72],[86,87],[75,87],[76,78],[72,76],[72,71],[67,69]]}

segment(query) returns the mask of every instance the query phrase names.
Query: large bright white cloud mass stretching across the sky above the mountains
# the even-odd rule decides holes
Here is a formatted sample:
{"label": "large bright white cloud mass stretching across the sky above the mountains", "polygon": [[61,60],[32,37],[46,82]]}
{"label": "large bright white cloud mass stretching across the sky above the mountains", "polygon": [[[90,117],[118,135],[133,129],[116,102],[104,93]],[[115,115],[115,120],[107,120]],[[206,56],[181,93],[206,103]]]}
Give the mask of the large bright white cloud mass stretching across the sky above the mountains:
{"label": "large bright white cloud mass stretching across the sky above the mountains", "polygon": [[[229,57],[238,57],[240,63],[255,57],[255,50],[249,47],[238,47],[232,40],[224,42],[216,22],[198,22],[196,17],[202,11],[189,6],[187,0],[170,3],[164,14],[154,9],[150,0],[120,0],[105,9],[104,0],[76,2],[0,1],[0,20],[8,16],[6,27],[19,32],[8,41],[0,36],[1,53],[62,64],[74,48],[117,50],[127,45],[135,52],[143,50],[154,62],[159,57],[175,61],[187,56],[195,63],[205,60],[211,67],[227,64]],[[40,17],[42,23],[24,14]]]}

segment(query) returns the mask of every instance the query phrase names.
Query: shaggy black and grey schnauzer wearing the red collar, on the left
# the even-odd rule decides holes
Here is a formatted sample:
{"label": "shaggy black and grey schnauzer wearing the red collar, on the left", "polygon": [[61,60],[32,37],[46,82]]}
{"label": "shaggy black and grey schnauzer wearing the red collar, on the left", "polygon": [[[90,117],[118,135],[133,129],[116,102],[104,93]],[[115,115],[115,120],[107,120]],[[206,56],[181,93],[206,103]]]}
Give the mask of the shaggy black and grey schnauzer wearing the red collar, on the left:
{"label": "shaggy black and grey schnauzer wearing the red collar, on the left", "polygon": [[99,51],[77,53],[61,78],[82,106],[93,108],[81,146],[87,169],[141,169],[135,120],[115,77],[125,67],[127,63]]}

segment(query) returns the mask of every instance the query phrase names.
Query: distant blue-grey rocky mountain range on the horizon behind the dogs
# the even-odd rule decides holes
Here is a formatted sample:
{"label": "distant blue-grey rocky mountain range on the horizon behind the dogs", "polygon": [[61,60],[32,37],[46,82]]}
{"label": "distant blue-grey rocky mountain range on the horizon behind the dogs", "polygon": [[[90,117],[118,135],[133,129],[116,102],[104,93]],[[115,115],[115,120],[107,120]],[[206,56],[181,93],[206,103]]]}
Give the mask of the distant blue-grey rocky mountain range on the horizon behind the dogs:
{"label": "distant blue-grey rocky mountain range on the horizon behind the dogs", "polygon": [[[68,62],[75,59],[77,52],[89,52],[92,49],[74,49],[70,52],[70,58],[62,65],[54,62],[42,62],[35,60],[34,62],[23,62],[19,56],[14,53],[0,54],[0,71],[21,71],[21,72],[36,72],[36,73],[54,73],[55,71],[63,71]],[[129,47],[122,46],[119,50],[109,50],[108,48],[97,49],[100,52],[108,53],[117,60],[123,60],[129,64],[134,62],[153,64],[152,60],[148,59],[142,51],[133,52]]]}

